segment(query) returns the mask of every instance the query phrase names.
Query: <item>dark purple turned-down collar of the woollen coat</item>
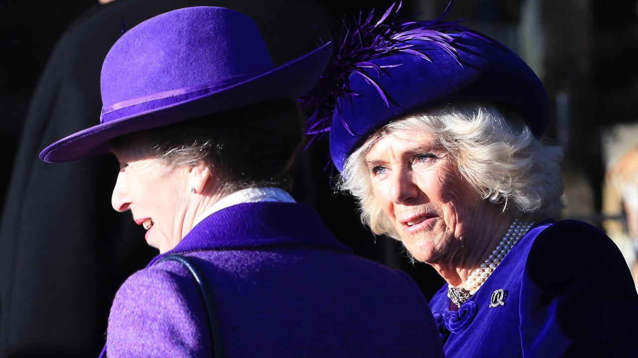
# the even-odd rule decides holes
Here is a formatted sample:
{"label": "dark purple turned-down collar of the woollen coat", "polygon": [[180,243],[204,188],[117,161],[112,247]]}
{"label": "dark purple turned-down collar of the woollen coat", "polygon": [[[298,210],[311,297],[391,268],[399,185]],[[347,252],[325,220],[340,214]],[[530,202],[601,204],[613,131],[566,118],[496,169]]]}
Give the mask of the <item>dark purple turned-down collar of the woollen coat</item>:
{"label": "dark purple turned-down collar of the woollen coat", "polygon": [[170,254],[281,246],[310,246],[352,252],[323,226],[318,213],[311,206],[278,202],[244,203],[229,206],[204,218],[173,250],[156,256],[148,266]]}

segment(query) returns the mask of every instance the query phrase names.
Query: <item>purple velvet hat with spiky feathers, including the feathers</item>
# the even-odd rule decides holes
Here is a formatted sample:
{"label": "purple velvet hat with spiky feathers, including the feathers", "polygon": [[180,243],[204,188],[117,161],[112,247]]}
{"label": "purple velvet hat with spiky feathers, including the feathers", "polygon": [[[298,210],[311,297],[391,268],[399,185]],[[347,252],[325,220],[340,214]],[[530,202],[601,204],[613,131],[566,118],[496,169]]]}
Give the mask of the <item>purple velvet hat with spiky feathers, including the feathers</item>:
{"label": "purple velvet hat with spiky feathers, including the feathers", "polygon": [[[450,3],[451,4],[451,3]],[[547,93],[533,71],[504,45],[440,18],[397,20],[401,3],[345,27],[315,89],[302,97],[308,133],[330,135],[339,171],[383,125],[417,110],[462,101],[507,104],[540,138]],[[448,6],[449,7],[449,6]]]}

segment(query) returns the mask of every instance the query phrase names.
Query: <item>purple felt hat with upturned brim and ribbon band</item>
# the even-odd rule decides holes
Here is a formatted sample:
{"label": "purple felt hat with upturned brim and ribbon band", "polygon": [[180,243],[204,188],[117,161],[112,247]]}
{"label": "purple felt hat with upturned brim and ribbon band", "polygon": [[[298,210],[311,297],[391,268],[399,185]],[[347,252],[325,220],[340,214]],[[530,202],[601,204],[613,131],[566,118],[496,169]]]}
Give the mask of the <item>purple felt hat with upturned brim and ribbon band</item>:
{"label": "purple felt hat with upturned brim and ribbon band", "polygon": [[275,68],[255,22],[242,13],[209,6],[163,13],[127,31],[108,52],[100,124],[49,145],[40,159],[91,157],[123,134],[299,97],[315,85],[330,52],[327,43]]}

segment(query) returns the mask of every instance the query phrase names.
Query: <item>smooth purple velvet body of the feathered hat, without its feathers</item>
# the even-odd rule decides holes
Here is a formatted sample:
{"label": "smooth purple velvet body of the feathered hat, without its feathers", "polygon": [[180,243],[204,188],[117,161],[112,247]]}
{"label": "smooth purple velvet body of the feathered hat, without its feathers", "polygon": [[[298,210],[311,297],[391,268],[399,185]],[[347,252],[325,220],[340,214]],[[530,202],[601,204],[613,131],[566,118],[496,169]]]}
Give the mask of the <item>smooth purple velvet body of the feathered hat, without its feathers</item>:
{"label": "smooth purple velvet body of the feathered hat, without its feathers", "polygon": [[[350,75],[349,85],[358,96],[342,98],[330,128],[330,154],[339,171],[348,155],[377,129],[402,115],[463,101],[488,101],[510,106],[528,122],[538,137],[549,118],[549,100],[535,73],[514,52],[500,43],[468,34],[450,34],[456,57],[427,41],[413,41],[431,62],[410,54],[380,57],[371,62],[386,67],[383,72],[367,69],[387,94],[383,101],[366,78]],[[399,65],[399,66],[396,66]],[[343,117],[343,121],[341,120]],[[345,125],[348,125],[348,128]]]}

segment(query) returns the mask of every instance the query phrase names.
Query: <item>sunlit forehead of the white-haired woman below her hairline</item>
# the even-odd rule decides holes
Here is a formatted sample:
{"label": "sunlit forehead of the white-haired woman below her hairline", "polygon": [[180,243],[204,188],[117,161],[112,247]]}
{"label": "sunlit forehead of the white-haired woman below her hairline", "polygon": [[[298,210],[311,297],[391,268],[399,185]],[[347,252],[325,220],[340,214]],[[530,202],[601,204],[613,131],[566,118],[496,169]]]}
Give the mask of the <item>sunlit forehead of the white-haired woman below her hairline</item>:
{"label": "sunlit forehead of the white-haired woman below her hairline", "polygon": [[376,140],[367,151],[366,159],[388,154],[432,150],[434,147],[433,137],[430,134],[414,129],[397,129]]}

